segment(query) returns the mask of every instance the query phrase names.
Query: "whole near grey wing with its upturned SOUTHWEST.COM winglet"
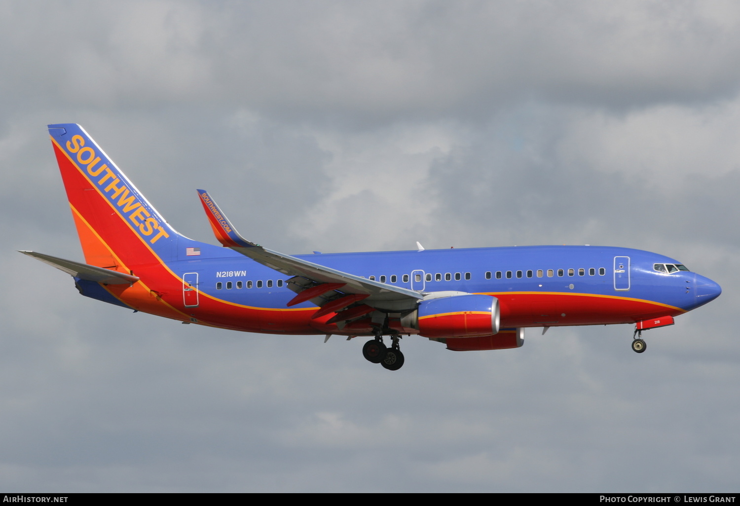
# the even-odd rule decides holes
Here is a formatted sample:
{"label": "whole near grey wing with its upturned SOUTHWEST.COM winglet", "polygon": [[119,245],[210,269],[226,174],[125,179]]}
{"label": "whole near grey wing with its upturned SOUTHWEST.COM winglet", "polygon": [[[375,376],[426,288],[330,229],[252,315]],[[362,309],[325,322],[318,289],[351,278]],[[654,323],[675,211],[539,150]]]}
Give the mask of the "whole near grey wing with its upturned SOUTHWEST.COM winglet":
{"label": "whole near grey wing with its upturned SOUTHWEST.COM winglet", "polygon": [[[226,218],[226,215],[223,215],[221,209],[218,209],[216,203],[210,198],[208,192],[199,189],[198,195],[201,198],[203,209],[206,210],[206,215],[208,216],[213,232],[223,246],[231,248],[270,269],[275,269],[288,276],[302,277],[308,281],[308,283],[293,283],[291,289],[299,291],[294,301],[301,298],[301,291],[308,292],[309,290],[313,290],[311,293],[315,294],[316,297],[322,293],[326,293],[326,291],[320,291],[320,285],[326,285],[327,289],[332,291],[338,290],[343,294],[364,295],[366,297],[363,297],[363,303],[366,305],[388,310],[403,311],[405,309],[412,309],[419,300],[424,298],[425,294],[421,291],[367,280],[364,277],[337,271],[331,267],[321,266],[317,263],[287,254],[274,252],[259,244],[252,243],[239,235],[228,218]],[[302,298],[299,302],[309,299],[321,305],[321,301],[317,301],[314,297]]]}

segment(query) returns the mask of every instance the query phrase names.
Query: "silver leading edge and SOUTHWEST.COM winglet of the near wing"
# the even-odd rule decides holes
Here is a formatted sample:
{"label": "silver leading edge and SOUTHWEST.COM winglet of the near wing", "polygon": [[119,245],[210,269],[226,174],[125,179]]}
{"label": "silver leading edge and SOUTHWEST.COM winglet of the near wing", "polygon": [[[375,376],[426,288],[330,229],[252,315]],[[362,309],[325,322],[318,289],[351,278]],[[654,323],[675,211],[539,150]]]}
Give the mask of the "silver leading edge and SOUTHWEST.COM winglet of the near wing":
{"label": "silver leading edge and SOUTHWEST.COM winglet of the near wing", "polygon": [[274,252],[257,243],[252,243],[239,235],[226,215],[221,212],[215,201],[205,190],[198,190],[203,209],[206,210],[209,223],[213,229],[216,239],[235,252],[249,257],[263,266],[275,269],[288,276],[306,277],[318,283],[345,283],[341,291],[347,294],[369,294],[365,300],[369,302],[380,302],[383,300],[417,300],[424,298],[424,293],[415,290],[401,288],[400,286],[386,285],[377,281],[371,281],[364,277],[355,276],[348,272],[337,271],[331,267],[320,266],[317,263],[292,257],[288,254]]}

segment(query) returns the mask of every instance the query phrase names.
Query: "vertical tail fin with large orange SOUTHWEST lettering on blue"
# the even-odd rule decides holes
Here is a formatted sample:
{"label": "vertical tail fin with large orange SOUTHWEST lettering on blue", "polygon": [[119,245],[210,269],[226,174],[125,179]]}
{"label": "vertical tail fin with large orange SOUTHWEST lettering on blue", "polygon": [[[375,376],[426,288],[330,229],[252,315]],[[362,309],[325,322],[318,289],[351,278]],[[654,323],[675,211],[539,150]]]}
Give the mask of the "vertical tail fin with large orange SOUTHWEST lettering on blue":
{"label": "vertical tail fin with large orange SOUTHWEST lettering on blue", "polygon": [[49,133],[85,261],[119,269],[173,260],[178,232],[90,135],[77,124],[49,125]]}

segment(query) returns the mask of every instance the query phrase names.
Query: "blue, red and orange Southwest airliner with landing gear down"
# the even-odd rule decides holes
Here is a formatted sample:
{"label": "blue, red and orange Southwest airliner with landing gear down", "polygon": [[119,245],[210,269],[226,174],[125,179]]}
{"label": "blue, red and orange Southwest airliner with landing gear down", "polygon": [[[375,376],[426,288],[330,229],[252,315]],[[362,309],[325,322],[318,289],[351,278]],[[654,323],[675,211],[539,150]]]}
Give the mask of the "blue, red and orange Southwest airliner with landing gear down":
{"label": "blue, red and orange Southwest airliner with landing gear down", "polygon": [[363,356],[396,371],[412,334],[497,350],[522,346],[527,327],[629,323],[642,353],[642,331],[721,293],[678,260],[608,246],[287,255],[241,237],[198,190],[213,246],[175,232],[82,127],[49,132],[86,263],[22,253],[71,274],[86,297],[182,323],[369,336]]}

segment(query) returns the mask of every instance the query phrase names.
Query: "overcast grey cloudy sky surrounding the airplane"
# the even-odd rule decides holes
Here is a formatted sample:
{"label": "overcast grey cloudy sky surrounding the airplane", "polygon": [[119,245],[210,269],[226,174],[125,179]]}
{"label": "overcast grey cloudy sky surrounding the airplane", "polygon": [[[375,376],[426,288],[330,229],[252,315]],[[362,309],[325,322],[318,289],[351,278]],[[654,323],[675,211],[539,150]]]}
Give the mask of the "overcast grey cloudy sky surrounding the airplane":
{"label": "overcast grey cloudy sky surrounding the airplane", "polygon": [[[80,297],[46,125],[172,226],[286,253],[525,244],[676,257],[724,294],[517,350],[180,325]],[[0,0],[0,488],[737,491],[735,1]]]}

